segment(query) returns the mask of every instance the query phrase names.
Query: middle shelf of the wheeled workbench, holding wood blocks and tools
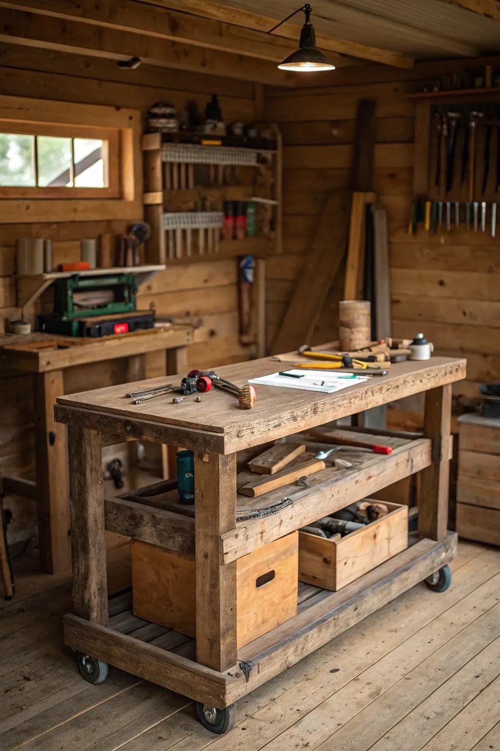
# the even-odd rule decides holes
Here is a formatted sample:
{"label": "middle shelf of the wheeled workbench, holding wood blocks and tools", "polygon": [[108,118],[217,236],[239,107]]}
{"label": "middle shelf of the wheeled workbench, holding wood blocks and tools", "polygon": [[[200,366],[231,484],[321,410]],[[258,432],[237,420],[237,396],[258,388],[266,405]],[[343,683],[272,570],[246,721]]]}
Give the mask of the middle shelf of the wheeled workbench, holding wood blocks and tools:
{"label": "middle shelf of the wheeled workbench, holding wood blocks and tools", "polygon": [[[300,436],[291,436],[291,439],[300,439]],[[391,441],[394,448],[388,455],[360,453],[355,448],[343,452],[343,458],[353,465],[349,469],[336,469],[334,454],[326,460],[325,469],[309,476],[310,487],[289,484],[256,498],[238,493],[237,512],[242,509],[256,511],[285,498],[291,499],[292,504],[266,517],[237,520],[235,529],[222,537],[224,562],[241,558],[349,503],[373,497],[378,490],[430,466],[430,439],[385,439],[385,442]],[[383,443],[384,439],[380,442]],[[318,451],[331,446],[311,443],[311,448]],[[238,487],[250,476],[255,477],[250,472],[238,472]],[[127,493],[122,498],[105,499],[106,529],[179,553],[192,554],[195,534],[193,507],[183,507],[178,502],[177,490],[172,488],[172,483],[166,481],[163,488],[158,483],[151,488]]]}

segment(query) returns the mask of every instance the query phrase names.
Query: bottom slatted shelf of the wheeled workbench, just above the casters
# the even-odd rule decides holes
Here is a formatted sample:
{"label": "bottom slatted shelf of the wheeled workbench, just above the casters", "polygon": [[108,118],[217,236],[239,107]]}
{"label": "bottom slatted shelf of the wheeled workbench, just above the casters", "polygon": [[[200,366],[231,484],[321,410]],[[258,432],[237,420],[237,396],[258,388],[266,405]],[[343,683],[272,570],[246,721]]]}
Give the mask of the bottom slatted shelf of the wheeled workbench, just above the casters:
{"label": "bottom slatted shelf of the wheeled workbench, just above the casters", "polygon": [[[302,657],[354,626],[367,615],[406,592],[454,558],[457,535],[423,539],[347,585],[340,592],[301,587],[298,614],[238,651],[239,661],[253,662],[249,679],[239,665],[226,671],[194,662],[195,643],[153,623],[135,621],[130,600],[110,601],[109,626],[64,617],[64,643],[160,686],[216,707],[226,707]],[[316,590],[316,591],[315,591]],[[113,630],[132,627],[127,634]]]}

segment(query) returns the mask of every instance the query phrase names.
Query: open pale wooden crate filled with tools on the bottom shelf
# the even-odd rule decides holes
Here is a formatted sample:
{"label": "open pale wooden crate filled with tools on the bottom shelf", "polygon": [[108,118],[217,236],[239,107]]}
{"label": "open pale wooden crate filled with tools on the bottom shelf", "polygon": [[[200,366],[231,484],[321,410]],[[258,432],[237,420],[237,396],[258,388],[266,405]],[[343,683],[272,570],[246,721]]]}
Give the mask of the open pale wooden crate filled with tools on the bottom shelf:
{"label": "open pale wooden crate filled with tools on the bottom shelf", "polygon": [[389,513],[339,540],[298,533],[298,578],[337,590],[408,547],[408,507],[387,503]]}

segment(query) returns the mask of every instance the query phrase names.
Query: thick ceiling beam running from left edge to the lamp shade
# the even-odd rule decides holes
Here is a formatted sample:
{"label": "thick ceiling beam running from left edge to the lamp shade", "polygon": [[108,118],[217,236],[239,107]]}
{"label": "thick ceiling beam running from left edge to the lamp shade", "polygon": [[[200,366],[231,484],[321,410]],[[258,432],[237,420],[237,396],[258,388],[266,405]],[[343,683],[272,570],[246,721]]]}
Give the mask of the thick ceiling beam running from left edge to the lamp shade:
{"label": "thick ceiling beam running from left edge to the lamp shade", "polygon": [[161,68],[261,81],[274,86],[292,86],[295,79],[280,71],[274,62],[254,58],[249,65],[248,59],[232,53],[178,42],[165,44],[163,39],[147,34],[104,29],[58,17],[46,16],[40,23],[38,14],[12,8],[4,8],[1,12],[0,41],[110,60],[136,56],[148,65]]}

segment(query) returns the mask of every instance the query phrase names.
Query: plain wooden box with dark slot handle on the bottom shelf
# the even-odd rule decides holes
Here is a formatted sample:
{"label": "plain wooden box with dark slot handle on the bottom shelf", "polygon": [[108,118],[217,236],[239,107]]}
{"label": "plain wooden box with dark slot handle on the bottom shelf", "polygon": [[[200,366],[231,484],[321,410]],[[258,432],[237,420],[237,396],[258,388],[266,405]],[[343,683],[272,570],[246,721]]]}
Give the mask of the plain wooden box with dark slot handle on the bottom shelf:
{"label": "plain wooden box with dark slot handle on the bottom shelf", "polygon": [[[238,558],[238,647],[297,614],[298,532]],[[194,556],[132,541],[133,614],[196,637]]]}

